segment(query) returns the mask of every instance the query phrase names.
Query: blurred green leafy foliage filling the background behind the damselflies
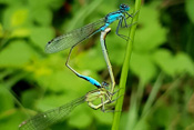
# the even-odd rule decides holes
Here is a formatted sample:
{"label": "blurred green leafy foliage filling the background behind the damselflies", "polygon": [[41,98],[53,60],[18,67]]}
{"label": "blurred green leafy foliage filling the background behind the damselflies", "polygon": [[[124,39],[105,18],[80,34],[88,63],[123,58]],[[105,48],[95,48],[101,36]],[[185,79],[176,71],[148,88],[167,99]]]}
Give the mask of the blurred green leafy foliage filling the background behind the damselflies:
{"label": "blurred green leafy foliage filling the background behind the damselflies", "polygon": [[[0,0],[0,129],[16,130],[37,112],[95,88],[64,66],[69,50],[45,54],[44,46],[55,36],[118,10],[119,4],[111,0]],[[194,129],[193,4],[193,0],[144,0],[121,130]],[[114,33],[116,23],[111,28],[106,47],[118,84],[126,44]],[[76,47],[70,64],[98,81],[110,81],[99,42],[96,34]],[[112,117],[84,103],[52,129],[106,130]]]}

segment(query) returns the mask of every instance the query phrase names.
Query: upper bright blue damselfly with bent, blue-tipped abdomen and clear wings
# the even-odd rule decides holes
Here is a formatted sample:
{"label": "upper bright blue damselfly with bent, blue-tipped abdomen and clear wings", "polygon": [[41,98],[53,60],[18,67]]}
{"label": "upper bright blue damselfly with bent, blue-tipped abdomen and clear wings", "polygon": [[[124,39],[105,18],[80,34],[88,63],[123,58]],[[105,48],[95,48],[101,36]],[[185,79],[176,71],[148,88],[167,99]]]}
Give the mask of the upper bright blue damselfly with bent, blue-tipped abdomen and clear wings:
{"label": "upper bright blue damselfly with bent, blue-tipped abdomen and clear wings", "polygon": [[[78,77],[88,80],[89,82],[91,82],[92,84],[94,84],[98,88],[101,88],[101,83],[99,83],[96,80],[94,80],[93,78],[80,74],[79,72],[76,72],[74,69],[72,69],[69,66],[69,60],[70,60],[72,49],[78,43],[84,41],[85,39],[92,37],[93,34],[95,34],[100,31],[104,31],[112,22],[114,22],[116,20],[119,20],[119,24],[116,28],[116,34],[119,37],[127,40],[126,36],[119,33],[119,29],[120,29],[120,27],[125,27],[125,28],[130,27],[129,24],[126,24],[126,19],[132,17],[131,14],[127,13],[129,10],[130,10],[129,6],[121,4],[120,9],[118,11],[114,11],[114,12],[106,14],[104,18],[102,18],[95,22],[89,23],[80,29],[75,29],[71,32],[64,33],[60,37],[57,37],[55,39],[52,39],[45,46],[45,52],[47,53],[54,53],[54,52],[71,48],[70,53],[68,56],[68,60],[65,62],[65,66],[71,71],[73,71]],[[124,26],[123,26],[123,21],[124,21]],[[103,46],[102,49],[106,51],[105,46]],[[104,58],[104,59],[109,60],[108,58]]]}

